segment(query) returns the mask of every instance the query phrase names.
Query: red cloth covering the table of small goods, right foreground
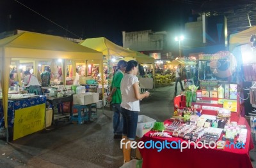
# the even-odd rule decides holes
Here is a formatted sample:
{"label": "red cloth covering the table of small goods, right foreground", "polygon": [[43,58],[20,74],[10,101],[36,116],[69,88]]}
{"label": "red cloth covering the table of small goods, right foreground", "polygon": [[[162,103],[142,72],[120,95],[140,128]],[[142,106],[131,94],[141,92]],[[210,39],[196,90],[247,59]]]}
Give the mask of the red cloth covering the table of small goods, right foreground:
{"label": "red cloth covering the table of small goods, right foreground", "polygon": [[[164,124],[171,125],[173,122],[166,120]],[[227,140],[224,148],[209,148],[208,145],[202,146],[201,141],[198,147],[191,141],[190,148],[186,147],[188,140],[182,137],[152,137],[156,133],[153,131],[145,134],[140,141],[146,143],[149,148],[140,149],[143,158],[142,167],[252,167],[249,151],[254,148],[251,131],[244,118],[240,118],[237,125],[246,125],[246,143],[244,147],[236,146]],[[223,134],[221,134],[221,137]],[[221,138],[220,138],[221,139]],[[182,144],[183,143],[183,144]],[[151,148],[150,148],[151,144]],[[197,144],[196,144],[197,145]],[[230,145],[230,147],[229,147]],[[183,146],[183,149],[181,149]],[[182,151],[181,151],[182,150]]]}

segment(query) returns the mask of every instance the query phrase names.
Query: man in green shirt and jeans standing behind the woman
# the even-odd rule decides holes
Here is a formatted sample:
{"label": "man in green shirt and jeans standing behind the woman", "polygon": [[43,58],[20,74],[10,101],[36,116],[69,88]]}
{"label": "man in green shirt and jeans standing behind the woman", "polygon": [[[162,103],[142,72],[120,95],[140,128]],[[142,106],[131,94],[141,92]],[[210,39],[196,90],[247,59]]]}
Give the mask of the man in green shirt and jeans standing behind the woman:
{"label": "man in green shirt and jeans standing behind the woman", "polygon": [[124,71],[127,63],[125,60],[120,60],[117,63],[117,71],[113,76],[111,83],[111,94],[108,97],[108,101],[112,102],[113,106],[113,129],[114,139],[121,139],[123,133],[123,116],[121,114],[121,102],[122,95],[120,90],[120,83],[124,77]]}

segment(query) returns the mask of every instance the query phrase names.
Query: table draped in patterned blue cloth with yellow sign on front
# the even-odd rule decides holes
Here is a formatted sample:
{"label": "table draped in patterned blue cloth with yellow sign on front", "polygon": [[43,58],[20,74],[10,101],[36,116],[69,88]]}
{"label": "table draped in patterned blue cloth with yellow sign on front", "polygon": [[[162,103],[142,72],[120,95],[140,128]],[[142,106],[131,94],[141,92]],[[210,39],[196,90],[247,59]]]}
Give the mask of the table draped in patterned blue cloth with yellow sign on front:
{"label": "table draped in patterned blue cloth with yellow sign on front", "polygon": [[[45,96],[8,101],[8,130],[13,140],[45,127]],[[4,127],[3,101],[0,101],[0,127]]]}

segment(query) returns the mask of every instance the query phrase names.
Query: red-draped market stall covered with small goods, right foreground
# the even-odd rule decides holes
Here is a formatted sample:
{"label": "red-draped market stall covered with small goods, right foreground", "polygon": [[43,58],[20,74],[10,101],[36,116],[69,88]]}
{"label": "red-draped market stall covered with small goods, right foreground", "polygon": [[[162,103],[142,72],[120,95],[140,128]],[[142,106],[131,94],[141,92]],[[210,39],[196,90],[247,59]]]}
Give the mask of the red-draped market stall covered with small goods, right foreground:
{"label": "red-draped market stall covered with small goods, right foreground", "polygon": [[[141,138],[147,143],[140,148],[143,167],[252,167],[249,151],[254,145],[251,128],[241,116],[241,90],[228,80],[234,66],[229,52],[199,55],[200,90],[191,85],[176,96],[173,116],[155,123]],[[214,72],[209,79],[207,69]]]}

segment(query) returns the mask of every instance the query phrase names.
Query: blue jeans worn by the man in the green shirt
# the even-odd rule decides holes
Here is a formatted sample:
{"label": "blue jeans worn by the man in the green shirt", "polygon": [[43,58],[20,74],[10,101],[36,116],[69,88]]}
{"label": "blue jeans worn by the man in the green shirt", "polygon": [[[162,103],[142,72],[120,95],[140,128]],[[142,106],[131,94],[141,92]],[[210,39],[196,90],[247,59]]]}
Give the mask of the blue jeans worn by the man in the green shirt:
{"label": "blue jeans worn by the man in the green shirt", "polygon": [[119,103],[113,103],[113,111],[114,111],[114,115],[113,115],[113,129],[114,129],[114,134],[117,135],[122,135],[123,133],[123,115],[121,113],[121,104]]}

